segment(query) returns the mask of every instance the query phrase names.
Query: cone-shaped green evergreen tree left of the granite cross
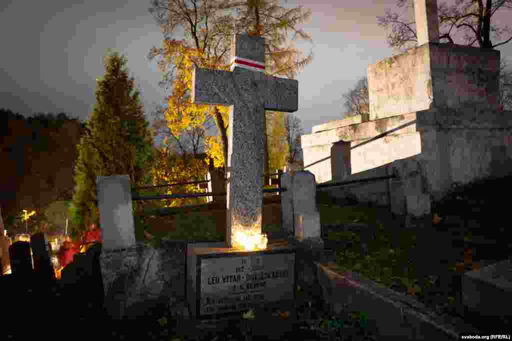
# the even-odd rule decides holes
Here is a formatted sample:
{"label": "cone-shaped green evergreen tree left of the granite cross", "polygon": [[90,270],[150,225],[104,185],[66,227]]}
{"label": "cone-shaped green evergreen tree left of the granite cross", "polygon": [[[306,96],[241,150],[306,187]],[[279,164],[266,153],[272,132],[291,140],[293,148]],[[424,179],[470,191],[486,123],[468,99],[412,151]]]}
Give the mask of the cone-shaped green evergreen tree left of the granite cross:
{"label": "cone-shaped green evergreen tree left of the granite cross", "polygon": [[[97,220],[96,176],[128,174],[132,187],[151,184],[153,134],[126,59],[105,56],[105,74],[96,82],[96,104],[78,146],[75,193],[70,211],[81,229]],[[136,202],[134,202],[134,210]]]}

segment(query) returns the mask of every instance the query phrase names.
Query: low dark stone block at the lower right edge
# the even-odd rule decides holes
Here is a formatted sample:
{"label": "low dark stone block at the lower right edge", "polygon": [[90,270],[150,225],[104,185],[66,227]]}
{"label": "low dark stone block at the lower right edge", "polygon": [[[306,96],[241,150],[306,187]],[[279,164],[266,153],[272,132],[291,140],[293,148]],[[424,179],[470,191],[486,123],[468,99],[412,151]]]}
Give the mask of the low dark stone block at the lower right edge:
{"label": "low dark stone block at the lower right edge", "polygon": [[507,259],[465,272],[462,276],[462,302],[469,310],[482,316],[511,316],[512,261]]}

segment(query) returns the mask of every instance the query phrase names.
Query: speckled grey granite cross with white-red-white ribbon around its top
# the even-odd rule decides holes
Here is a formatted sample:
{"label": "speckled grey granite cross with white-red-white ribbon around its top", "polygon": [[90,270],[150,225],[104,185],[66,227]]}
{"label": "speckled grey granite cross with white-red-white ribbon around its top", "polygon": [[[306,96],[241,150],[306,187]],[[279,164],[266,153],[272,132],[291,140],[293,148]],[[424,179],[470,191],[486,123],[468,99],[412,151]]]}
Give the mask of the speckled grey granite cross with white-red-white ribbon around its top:
{"label": "speckled grey granite cross with white-red-white ribbon around its top", "polygon": [[265,110],[296,111],[298,82],[264,74],[263,37],[238,34],[232,48],[231,72],[194,70],[192,102],[231,107],[226,242],[228,247],[240,247],[233,239],[237,232],[261,233]]}

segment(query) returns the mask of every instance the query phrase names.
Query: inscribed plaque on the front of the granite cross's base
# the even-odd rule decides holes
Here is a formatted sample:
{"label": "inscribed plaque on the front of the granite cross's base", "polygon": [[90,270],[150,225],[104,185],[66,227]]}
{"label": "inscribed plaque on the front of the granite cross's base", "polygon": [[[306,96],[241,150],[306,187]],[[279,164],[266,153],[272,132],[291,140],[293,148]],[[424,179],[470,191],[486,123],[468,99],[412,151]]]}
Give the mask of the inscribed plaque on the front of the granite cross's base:
{"label": "inscribed plaque on the front of the granite cross's base", "polygon": [[250,309],[254,305],[292,301],[295,253],[199,258],[200,315]]}

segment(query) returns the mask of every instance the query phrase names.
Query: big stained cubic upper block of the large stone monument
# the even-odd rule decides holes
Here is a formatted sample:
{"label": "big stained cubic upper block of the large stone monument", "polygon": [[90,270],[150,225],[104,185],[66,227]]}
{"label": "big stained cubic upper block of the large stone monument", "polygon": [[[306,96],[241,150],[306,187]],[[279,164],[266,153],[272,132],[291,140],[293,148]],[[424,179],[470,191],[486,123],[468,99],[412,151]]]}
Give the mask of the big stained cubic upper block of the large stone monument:
{"label": "big stained cubic upper block of the large stone monument", "polygon": [[428,110],[433,101],[497,108],[499,64],[498,50],[429,42],[369,65],[370,120]]}

